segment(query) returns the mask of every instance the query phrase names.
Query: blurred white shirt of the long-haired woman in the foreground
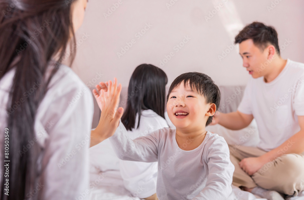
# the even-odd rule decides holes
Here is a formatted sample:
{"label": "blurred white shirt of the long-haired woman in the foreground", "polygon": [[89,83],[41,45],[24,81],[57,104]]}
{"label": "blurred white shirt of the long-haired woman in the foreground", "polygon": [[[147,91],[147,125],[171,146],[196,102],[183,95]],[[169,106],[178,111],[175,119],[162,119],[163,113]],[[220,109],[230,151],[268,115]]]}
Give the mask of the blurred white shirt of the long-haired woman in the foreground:
{"label": "blurred white shirt of the long-haired woman in the foreground", "polygon": [[[48,68],[47,74],[50,74],[51,68]],[[8,92],[14,74],[15,68],[7,72],[0,80],[0,130],[2,133],[7,127]],[[39,86],[39,83],[33,83],[34,85]],[[18,106],[19,102],[16,104]],[[10,106],[11,111],[14,105]],[[36,137],[28,141],[20,152],[20,156],[24,155],[35,142],[43,149],[40,166],[41,183],[37,186],[40,188],[43,199],[78,199],[81,193],[88,189],[88,149],[93,112],[94,104],[90,89],[71,68],[61,65],[51,79],[47,93],[36,112],[34,124]],[[1,135],[0,148],[3,149],[4,134]],[[2,162],[3,153],[0,154],[1,166]],[[1,170],[2,168],[0,172]]]}

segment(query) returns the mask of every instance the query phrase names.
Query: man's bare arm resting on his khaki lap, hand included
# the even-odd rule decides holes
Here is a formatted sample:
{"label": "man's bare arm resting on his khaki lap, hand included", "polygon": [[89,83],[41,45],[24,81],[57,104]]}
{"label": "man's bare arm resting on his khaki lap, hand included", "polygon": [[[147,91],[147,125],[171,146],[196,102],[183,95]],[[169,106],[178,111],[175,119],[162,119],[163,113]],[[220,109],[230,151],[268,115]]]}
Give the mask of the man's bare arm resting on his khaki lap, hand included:
{"label": "man's bare arm resting on his khaki lap, hand included", "polygon": [[[256,158],[244,158],[240,167],[250,176],[261,169],[264,164],[283,154],[304,152],[304,116],[298,116],[300,131],[286,140],[282,145]],[[287,150],[285,150],[287,147]],[[282,150],[284,149],[284,150]]]}

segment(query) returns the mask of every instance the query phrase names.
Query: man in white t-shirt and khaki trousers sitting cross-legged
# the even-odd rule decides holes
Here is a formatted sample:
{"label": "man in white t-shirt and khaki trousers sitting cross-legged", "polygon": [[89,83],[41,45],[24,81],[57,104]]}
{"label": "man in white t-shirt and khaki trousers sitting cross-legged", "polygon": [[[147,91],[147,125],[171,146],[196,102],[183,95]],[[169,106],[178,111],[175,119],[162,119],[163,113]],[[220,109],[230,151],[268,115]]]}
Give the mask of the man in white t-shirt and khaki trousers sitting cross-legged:
{"label": "man in white t-shirt and khaki trousers sitting cross-legged", "polygon": [[250,78],[236,112],[212,124],[239,130],[256,119],[257,147],[230,146],[233,184],[267,199],[304,190],[304,64],[280,56],[278,35],[254,22],[235,37]]}

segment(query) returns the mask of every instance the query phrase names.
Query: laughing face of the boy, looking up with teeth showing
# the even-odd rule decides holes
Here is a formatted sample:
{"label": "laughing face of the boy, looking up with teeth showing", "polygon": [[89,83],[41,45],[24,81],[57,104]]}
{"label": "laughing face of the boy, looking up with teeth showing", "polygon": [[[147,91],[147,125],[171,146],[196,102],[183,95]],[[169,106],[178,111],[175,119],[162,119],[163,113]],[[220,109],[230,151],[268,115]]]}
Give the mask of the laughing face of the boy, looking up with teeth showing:
{"label": "laughing face of the boy, looking up with teeth showing", "polygon": [[177,129],[190,132],[205,128],[210,105],[203,95],[192,91],[189,84],[185,88],[182,82],[169,94],[167,112]]}

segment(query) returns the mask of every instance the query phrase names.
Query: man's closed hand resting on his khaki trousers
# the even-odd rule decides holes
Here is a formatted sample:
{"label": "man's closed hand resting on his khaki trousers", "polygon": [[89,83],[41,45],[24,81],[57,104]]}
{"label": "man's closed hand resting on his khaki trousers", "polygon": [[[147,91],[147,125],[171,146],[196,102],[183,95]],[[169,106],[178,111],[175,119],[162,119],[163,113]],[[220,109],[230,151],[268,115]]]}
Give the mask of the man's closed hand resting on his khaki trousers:
{"label": "man's closed hand resting on his khaki trousers", "polygon": [[239,166],[249,175],[252,176],[257,170],[261,169],[266,164],[261,157],[244,158],[239,163]]}

